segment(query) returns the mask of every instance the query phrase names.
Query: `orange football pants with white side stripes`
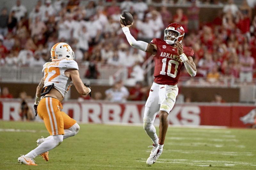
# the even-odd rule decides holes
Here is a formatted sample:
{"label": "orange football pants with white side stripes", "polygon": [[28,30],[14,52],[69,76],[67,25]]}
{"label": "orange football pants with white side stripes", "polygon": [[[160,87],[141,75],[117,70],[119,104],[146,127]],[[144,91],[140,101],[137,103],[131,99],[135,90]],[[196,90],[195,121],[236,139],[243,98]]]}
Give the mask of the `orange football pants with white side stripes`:
{"label": "orange football pants with white side stripes", "polygon": [[44,120],[44,124],[50,135],[64,135],[64,129],[68,129],[76,123],[76,120],[61,112],[62,105],[58,99],[44,97],[38,104],[37,113]]}

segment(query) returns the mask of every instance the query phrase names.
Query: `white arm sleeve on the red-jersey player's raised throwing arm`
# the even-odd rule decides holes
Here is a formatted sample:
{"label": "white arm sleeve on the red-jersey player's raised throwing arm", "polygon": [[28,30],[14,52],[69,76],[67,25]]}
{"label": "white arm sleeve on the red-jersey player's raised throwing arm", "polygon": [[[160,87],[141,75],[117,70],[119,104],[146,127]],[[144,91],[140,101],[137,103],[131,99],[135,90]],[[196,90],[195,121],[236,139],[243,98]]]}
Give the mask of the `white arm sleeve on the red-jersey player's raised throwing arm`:
{"label": "white arm sleeve on the red-jersey player's raised throwing arm", "polygon": [[127,41],[129,42],[129,44],[137,49],[140,49],[142,51],[146,51],[148,48],[148,43],[144,42],[144,41],[136,41],[135,38],[132,36],[132,34],[130,33],[130,30],[128,27],[123,27],[123,32],[126,36]]}

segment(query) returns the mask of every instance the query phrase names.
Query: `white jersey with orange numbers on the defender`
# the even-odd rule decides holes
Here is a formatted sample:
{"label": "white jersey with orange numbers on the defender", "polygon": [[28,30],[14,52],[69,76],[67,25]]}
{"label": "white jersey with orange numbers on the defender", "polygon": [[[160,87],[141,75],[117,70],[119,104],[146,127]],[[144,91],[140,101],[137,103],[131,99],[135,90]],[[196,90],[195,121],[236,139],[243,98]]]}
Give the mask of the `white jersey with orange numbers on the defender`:
{"label": "white jersey with orange numbers on the defender", "polygon": [[64,59],[58,62],[45,63],[42,70],[44,73],[44,87],[53,83],[54,88],[64,97],[70,86],[73,85],[71,78],[65,75],[65,71],[68,69],[78,70],[76,61]]}

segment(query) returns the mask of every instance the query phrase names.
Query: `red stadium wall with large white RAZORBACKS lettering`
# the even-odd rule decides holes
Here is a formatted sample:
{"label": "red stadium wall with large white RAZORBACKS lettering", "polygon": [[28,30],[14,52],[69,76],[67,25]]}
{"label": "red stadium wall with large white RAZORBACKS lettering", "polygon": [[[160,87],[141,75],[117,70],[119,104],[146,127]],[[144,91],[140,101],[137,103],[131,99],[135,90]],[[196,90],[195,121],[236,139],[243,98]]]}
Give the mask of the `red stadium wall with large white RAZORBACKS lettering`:
{"label": "red stadium wall with large white RAZORBACKS lettering", "polygon": [[[33,101],[29,102],[31,109]],[[0,119],[19,121],[19,100],[0,100]],[[80,122],[93,123],[142,123],[144,103],[110,102],[63,102],[63,111]],[[255,106],[225,104],[176,104],[170,115],[169,123],[174,125],[212,125],[246,127],[240,119],[245,116],[253,122]],[[40,120],[39,116],[36,120]],[[156,118],[156,123],[159,120]]]}

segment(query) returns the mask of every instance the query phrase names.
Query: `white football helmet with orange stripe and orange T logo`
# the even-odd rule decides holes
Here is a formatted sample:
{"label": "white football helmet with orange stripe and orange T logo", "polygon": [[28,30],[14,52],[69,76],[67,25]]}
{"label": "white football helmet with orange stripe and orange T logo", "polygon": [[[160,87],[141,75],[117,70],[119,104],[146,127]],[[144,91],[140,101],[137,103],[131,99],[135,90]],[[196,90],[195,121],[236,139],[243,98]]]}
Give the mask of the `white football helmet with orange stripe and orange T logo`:
{"label": "white football helmet with orange stripe and orange T logo", "polygon": [[51,49],[51,60],[57,62],[63,59],[74,60],[75,54],[72,48],[65,42],[55,44]]}

